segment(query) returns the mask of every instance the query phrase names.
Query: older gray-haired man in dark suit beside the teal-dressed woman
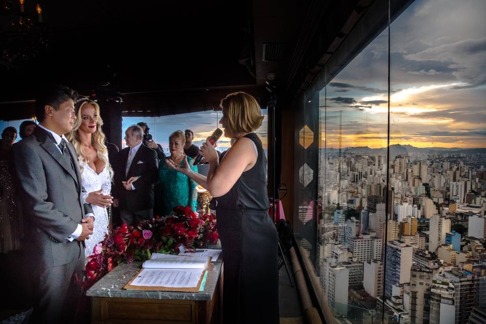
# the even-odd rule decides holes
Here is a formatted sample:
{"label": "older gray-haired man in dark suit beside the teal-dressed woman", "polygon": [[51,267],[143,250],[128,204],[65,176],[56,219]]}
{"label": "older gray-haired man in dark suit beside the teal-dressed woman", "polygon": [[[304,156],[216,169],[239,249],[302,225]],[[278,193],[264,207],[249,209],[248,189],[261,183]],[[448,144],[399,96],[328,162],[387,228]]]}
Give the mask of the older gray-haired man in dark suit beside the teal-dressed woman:
{"label": "older gray-haired man in dark suit beside the teal-dressed woman", "polygon": [[129,226],[153,217],[153,185],[158,176],[157,153],[143,144],[143,131],[138,125],[125,132],[126,148],[118,153],[114,176],[115,199],[121,221]]}

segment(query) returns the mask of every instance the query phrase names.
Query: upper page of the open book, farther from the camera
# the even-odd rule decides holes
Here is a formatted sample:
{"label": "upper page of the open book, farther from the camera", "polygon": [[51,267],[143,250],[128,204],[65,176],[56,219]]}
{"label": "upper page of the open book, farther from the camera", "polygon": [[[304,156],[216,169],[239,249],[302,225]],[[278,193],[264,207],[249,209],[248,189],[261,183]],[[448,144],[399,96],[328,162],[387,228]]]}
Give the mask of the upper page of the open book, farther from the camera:
{"label": "upper page of the open book, farther from the camera", "polygon": [[154,253],[143,263],[142,268],[204,269],[209,265],[209,257],[189,258],[187,256]]}

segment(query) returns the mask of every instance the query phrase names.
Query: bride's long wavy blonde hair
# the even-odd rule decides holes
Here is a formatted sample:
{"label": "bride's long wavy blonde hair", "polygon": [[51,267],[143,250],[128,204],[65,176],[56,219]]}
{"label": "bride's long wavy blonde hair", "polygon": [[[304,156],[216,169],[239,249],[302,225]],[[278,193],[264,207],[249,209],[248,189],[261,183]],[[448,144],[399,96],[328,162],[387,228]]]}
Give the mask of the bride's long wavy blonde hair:
{"label": "bride's long wavy blonde hair", "polygon": [[101,119],[100,115],[100,106],[93,100],[82,100],[79,103],[76,103],[76,119],[74,120],[74,126],[72,127],[71,132],[67,134],[67,139],[72,143],[74,148],[76,149],[77,153],[77,160],[79,164],[79,168],[83,171],[83,166],[81,165],[81,161],[85,161],[89,163],[89,158],[85,155],[83,145],[79,140],[78,129],[81,126],[81,108],[84,105],[92,105],[95,107],[96,114],[98,115],[98,119],[96,121],[96,132],[91,135],[91,145],[96,149],[98,158],[102,160],[110,173],[110,179],[113,179],[113,169],[108,160],[108,149],[105,146],[105,134],[101,130],[103,126],[103,119]]}

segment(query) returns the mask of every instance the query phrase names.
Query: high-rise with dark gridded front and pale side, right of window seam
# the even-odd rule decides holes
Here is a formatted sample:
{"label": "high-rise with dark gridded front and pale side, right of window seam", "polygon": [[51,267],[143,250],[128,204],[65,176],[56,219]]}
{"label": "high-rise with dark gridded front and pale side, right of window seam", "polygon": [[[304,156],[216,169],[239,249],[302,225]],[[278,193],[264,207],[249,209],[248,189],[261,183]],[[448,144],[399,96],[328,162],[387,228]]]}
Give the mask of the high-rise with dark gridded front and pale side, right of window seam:
{"label": "high-rise with dark gridded front and pale side, right of window seam", "polygon": [[386,243],[385,296],[391,298],[392,286],[410,282],[413,248],[405,242],[394,240]]}

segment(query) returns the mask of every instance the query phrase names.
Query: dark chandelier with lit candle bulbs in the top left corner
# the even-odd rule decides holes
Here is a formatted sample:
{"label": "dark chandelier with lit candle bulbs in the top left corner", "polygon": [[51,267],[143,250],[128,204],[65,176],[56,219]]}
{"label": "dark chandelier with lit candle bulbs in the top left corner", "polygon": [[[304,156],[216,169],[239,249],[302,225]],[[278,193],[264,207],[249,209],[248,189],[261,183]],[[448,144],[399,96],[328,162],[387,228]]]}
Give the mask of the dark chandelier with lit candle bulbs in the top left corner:
{"label": "dark chandelier with lit candle bulbs in the top left corner", "polygon": [[22,66],[48,47],[42,4],[35,0],[0,0],[0,61]]}

